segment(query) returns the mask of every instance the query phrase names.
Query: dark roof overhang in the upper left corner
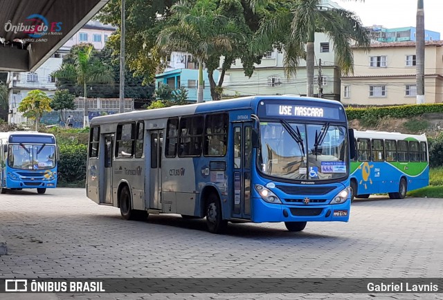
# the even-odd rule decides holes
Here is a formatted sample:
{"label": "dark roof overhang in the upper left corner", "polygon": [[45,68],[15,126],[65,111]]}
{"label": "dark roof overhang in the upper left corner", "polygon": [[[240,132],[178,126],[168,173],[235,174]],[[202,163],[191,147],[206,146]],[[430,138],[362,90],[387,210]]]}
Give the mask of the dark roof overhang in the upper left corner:
{"label": "dark roof overhang in the upper left corner", "polygon": [[109,0],[0,0],[0,71],[35,71]]}

